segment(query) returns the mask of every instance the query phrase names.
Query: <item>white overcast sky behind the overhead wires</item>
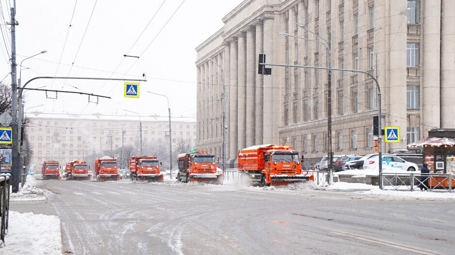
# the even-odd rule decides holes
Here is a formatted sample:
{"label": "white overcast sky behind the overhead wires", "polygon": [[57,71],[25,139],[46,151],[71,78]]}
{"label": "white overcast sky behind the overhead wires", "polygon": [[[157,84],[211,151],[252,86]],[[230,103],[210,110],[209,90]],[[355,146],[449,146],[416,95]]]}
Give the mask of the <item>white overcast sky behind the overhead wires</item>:
{"label": "white overcast sky behind the overhead wires", "polygon": [[[24,110],[46,113],[195,117],[195,47],[223,27],[242,0],[20,0],[16,2],[17,78],[37,76],[142,79],[140,97],[125,98],[123,81],[38,79],[26,88],[93,93],[112,99],[24,90]],[[1,25],[13,0],[0,1]],[[148,24],[148,25],[147,25]],[[11,84],[10,26],[1,26],[0,79]],[[22,60],[34,58],[19,65]],[[137,56],[124,57],[124,55]],[[29,69],[28,69],[29,68]],[[57,97],[57,99],[55,99]],[[98,104],[96,104],[98,102]],[[41,106],[38,106],[41,105]],[[36,107],[35,107],[36,106]]]}

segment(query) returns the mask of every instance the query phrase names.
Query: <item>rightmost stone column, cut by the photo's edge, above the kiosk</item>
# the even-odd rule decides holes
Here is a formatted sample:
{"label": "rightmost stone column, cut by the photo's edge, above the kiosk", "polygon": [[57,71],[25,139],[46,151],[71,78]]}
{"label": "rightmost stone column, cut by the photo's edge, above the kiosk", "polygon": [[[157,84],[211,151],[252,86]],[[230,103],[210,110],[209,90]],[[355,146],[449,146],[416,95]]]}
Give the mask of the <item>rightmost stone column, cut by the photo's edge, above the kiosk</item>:
{"label": "rightmost stone column, cut by the photo's edge, above the kiosk", "polygon": [[441,128],[455,128],[455,2],[441,1]]}

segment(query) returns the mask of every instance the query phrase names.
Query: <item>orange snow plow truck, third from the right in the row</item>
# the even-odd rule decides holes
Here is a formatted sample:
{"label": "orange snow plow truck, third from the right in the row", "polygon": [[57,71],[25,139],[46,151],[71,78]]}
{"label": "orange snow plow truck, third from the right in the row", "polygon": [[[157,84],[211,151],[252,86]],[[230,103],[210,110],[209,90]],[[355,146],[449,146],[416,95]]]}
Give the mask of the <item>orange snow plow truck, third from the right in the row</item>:
{"label": "orange snow plow truck, third from the right in the row", "polygon": [[162,163],[156,157],[143,156],[130,158],[130,178],[131,180],[155,180],[163,182],[163,175],[160,174]]}

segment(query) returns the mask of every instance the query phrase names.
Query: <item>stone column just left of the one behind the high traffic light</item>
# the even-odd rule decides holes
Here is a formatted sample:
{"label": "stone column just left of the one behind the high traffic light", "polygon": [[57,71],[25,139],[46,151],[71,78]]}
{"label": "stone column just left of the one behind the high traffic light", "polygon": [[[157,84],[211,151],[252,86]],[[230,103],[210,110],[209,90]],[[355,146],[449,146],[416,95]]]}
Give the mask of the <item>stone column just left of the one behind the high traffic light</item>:
{"label": "stone column just left of the one behind the high traffic light", "polygon": [[254,27],[246,31],[246,146],[255,145],[256,111],[255,111],[255,78],[256,78],[256,41]]}

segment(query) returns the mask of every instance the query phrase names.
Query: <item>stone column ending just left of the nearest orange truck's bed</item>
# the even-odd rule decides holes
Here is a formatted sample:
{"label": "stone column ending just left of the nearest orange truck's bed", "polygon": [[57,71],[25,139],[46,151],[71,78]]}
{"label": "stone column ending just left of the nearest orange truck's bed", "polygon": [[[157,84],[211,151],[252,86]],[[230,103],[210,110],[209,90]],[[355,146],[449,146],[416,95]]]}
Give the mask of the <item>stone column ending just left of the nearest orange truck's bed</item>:
{"label": "stone column ending just left of the nearest orange truck's bed", "polygon": [[229,122],[227,130],[229,131],[229,157],[237,158],[237,38],[229,40],[230,43],[230,65],[229,65]]}

